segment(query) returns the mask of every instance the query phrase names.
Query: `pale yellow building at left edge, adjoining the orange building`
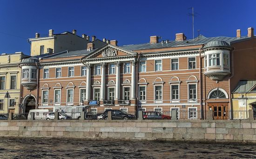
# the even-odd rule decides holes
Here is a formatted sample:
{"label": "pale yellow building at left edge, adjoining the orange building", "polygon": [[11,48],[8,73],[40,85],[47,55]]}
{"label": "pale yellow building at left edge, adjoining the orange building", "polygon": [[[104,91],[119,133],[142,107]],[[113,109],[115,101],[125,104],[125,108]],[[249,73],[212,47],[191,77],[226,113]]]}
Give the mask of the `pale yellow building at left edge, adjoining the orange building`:
{"label": "pale yellow building at left edge, adjoining the orange building", "polygon": [[[0,114],[19,113],[22,52],[0,55]],[[8,94],[7,94],[8,92]]]}

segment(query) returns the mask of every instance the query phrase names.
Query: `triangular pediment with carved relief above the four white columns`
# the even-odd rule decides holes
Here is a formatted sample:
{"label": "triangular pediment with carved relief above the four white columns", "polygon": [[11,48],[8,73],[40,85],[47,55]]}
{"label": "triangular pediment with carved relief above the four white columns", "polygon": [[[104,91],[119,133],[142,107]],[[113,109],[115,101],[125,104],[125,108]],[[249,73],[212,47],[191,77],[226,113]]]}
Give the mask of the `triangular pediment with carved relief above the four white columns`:
{"label": "triangular pediment with carved relief above the four white columns", "polygon": [[128,56],[128,55],[136,55],[133,51],[128,51],[125,49],[122,49],[119,46],[115,45],[105,45],[102,48],[92,52],[89,54],[85,59],[88,58],[104,58],[104,57],[119,57],[119,56]]}

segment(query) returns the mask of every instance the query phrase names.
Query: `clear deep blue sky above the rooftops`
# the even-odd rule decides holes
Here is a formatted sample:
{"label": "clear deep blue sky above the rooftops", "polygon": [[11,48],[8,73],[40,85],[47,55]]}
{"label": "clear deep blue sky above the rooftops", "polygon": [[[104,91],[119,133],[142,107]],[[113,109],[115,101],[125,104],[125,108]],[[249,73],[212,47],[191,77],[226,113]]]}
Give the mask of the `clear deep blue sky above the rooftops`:
{"label": "clear deep blue sky above the rooftops", "polygon": [[235,37],[256,29],[256,0],[0,0],[0,53],[29,54],[27,38],[35,33],[72,32],[118,40],[118,45],[149,42],[158,35],[175,39],[183,32],[192,38],[190,7],[195,17],[195,36]]}

